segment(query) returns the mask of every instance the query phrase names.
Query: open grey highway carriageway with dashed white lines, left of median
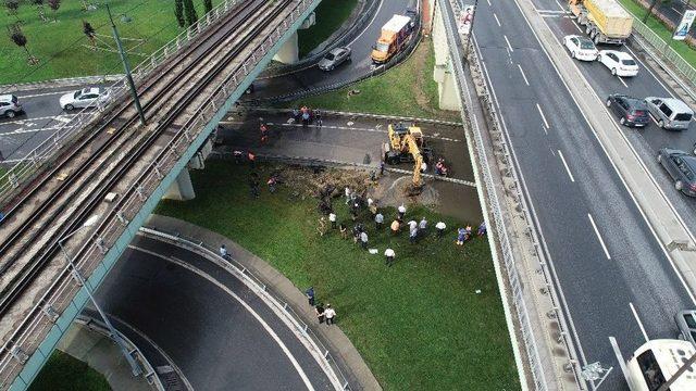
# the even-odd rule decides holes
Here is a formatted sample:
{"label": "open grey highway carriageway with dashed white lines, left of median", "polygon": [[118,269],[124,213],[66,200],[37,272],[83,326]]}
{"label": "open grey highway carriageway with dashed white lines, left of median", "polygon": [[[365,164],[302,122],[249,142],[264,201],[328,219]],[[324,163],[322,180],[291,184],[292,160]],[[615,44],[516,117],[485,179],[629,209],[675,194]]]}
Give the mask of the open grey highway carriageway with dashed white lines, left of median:
{"label": "open grey highway carriageway with dashed white lines, left of median", "polygon": [[[550,3],[555,8],[549,1],[536,5],[559,11]],[[617,370],[601,388],[625,390],[610,338],[625,357],[648,338],[674,338],[672,316],[693,307],[694,301],[517,3],[478,4],[477,50],[552,263],[581,364],[613,366]],[[606,78],[610,74],[599,64],[589,66],[593,77],[602,78],[592,83],[621,86]],[[643,70],[635,80],[646,75]]]}

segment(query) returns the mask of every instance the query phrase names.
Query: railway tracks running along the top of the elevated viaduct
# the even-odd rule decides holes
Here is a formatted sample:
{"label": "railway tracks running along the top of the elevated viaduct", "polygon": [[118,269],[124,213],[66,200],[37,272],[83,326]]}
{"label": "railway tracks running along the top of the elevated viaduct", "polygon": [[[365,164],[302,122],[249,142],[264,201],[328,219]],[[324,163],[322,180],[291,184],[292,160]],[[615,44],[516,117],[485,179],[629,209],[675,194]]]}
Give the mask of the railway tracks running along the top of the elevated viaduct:
{"label": "railway tracks running along the top of the elevated viaduct", "polygon": [[[204,101],[201,91],[210,87],[211,84],[220,78],[222,72],[235,60],[235,58],[246,48],[246,45],[253,38],[258,37],[269,21],[275,18],[282,10],[291,2],[291,0],[268,2],[268,1],[251,1],[245,7],[253,8],[253,14],[262,13],[260,17],[251,23],[245,25],[244,28],[235,36],[233,43],[223,45],[222,49],[216,51],[206,51],[200,54],[200,59],[209,59],[208,62],[221,55],[222,59],[212,65],[208,72],[206,72],[199,79],[195,81],[194,88],[185,89],[182,84],[189,84],[190,78],[177,79],[173,83],[166,92],[160,98],[159,101],[163,101],[163,104],[157,106],[158,111],[161,111],[157,124],[152,129],[148,129],[146,136],[136,137],[137,133],[132,133],[126,137],[112,137],[109,143],[102,146],[95,146],[94,142],[83,143],[85,147],[83,150],[76,149],[70,156],[80,157],[85,154],[85,149],[89,150],[91,147],[94,151],[87,153],[87,159],[76,159],[78,162],[89,162],[97,164],[84,164],[78,165],[78,173],[72,173],[69,178],[75,178],[70,185],[61,185],[53,189],[51,194],[39,203],[40,206],[32,210],[30,216],[35,216],[32,219],[25,222],[25,224],[18,225],[16,230],[12,231],[12,240],[5,241],[0,250],[1,257],[3,260],[2,268],[4,274],[1,280],[0,290],[0,316],[7,314],[9,308],[12,307],[13,302],[21,297],[27,286],[29,286],[33,279],[45,268],[45,266],[54,257],[58,251],[58,240],[64,235],[73,231],[82,225],[82,222],[87,218],[92,210],[96,209],[102,202],[107,192],[113,191],[117,187],[124,176],[133,168],[137,168],[139,160],[151,150],[151,147],[162,141],[162,138],[166,137],[166,131],[172,126],[183,126],[184,122],[181,121],[181,115],[185,113],[187,109],[196,108],[197,102]],[[244,22],[247,22],[246,17],[243,17]],[[238,25],[238,24],[237,24]],[[236,27],[237,25],[233,26]],[[223,31],[231,30],[229,26],[220,27]],[[229,41],[228,37],[224,37],[224,34],[220,41]],[[195,52],[196,49],[190,52]],[[199,60],[200,60],[199,59]],[[200,65],[200,64],[199,64]],[[191,68],[189,68],[190,71]],[[187,73],[190,74],[191,72]],[[195,72],[194,72],[195,73]],[[153,84],[150,84],[152,86]],[[220,84],[222,85],[222,84]],[[184,93],[177,93],[181,91],[174,91],[175,89],[184,91]],[[172,92],[172,93],[169,93]],[[202,98],[201,98],[202,97]],[[172,104],[172,101],[176,99],[176,102]],[[146,104],[149,104],[148,102]],[[169,104],[166,104],[169,103]],[[167,108],[169,105],[169,108]],[[123,110],[127,110],[123,109]],[[153,106],[156,108],[156,106]],[[163,109],[164,108],[164,109]],[[132,114],[126,121],[122,121],[123,124],[119,129],[122,131],[120,135],[126,135],[126,129],[129,128],[134,121],[136,121],[135,113]],[[113,123],[113,122],[110,122]],[[107,126],[102,127],[105,128]],[[115,134],[115,131],[114,131]],[[129,147],[129,153],[126,155],[116,156],[119,162],[113,164],[113,161],[105,159],[99,161],[100,156],[103,156],[109,148],[123,148]],[[61,169],[65,169],[65,166],[70,162],[70,159],[64,161],[60,166],[57,166],[51,172],[53,174],[60,173]],[[109,163],[108,163],[109,162]],[[74,164],[74,163],[73,163]],[[99,172],[97,168],[101,168]],[[108,168],[108,169],[103,169]],[[97,175],[99,174],[99,175]],[[95,180],[89,180],[94,178]],[[52,176],[46,176],[41,185],[51,181]],[[79,180],[82,180],[82,182]],[[76,185],[79,182],[79,185]],[[89,186],[88,186],[89,184]],[[123,187],[127,187],[123,184]],[[74,187],[77,186],[77,190]],[[40,188],[40,186],[39,186]],[[46,190],[46,189],[45,189]],[[45,191],[44,190],[44,191]],[[34,193],[38,193],[39,190],[33,190]],[[46,201],[50,202],[46,202]],[[34,203],[30,197],[25,197],[20,205],[26,205]],[[15,207],[15,211],[18,211]],[[37,211],[41,213],[36,213]],[[18,213],[18,212],[17,212]],[[51,225],[51,229],[46,229]],[[3,228],[4,229],[4,228]],[[7,245],[5,245],[7,244]],[[11,255],[11,256],[10,256]]]}

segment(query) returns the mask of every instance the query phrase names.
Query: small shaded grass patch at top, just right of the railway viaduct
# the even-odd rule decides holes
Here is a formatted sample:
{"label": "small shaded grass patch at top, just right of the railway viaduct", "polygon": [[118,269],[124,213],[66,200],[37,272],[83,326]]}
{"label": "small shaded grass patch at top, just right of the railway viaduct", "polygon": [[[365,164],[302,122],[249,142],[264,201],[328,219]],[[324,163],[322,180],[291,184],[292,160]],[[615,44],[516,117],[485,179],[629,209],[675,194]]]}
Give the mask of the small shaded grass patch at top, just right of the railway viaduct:
{"label": "small shaded grass patch at top, just right of the railway viaduct", "polygon": [[316,24],[297,33],[300,59],[340,28],[357,4],[358,0],[322,0],[315,10]]}

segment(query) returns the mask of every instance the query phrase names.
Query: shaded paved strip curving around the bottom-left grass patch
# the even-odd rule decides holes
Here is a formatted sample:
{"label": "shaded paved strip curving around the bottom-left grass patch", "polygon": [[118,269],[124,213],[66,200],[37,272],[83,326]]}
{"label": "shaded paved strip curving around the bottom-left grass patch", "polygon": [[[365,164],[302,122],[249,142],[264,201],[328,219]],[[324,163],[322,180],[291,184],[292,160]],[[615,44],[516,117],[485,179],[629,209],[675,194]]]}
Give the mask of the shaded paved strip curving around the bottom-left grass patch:
{"label": "shaded paved strip curving around the bottom-left grass patch", "polygon": [[121,350],[107,336],[73,323],[58,349],[80,360],[103,375],[113,390],[151,391],[142,376],[134,377]]}

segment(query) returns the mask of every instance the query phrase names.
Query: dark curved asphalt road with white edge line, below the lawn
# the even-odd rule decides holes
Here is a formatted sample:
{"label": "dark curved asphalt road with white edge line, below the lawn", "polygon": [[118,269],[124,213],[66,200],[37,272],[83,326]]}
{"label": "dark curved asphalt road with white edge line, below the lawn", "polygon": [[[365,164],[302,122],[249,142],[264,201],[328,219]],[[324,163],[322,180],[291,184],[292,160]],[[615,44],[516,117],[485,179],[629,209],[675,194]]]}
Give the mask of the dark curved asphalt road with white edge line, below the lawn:
{"label": "dark curved asphalt road with white edge line, below the lawn", "polygon": [[160,346],[194,389],[333,390],[294,332],[236,277],[172,244],[137,237],[130,245],[98,300]]}

